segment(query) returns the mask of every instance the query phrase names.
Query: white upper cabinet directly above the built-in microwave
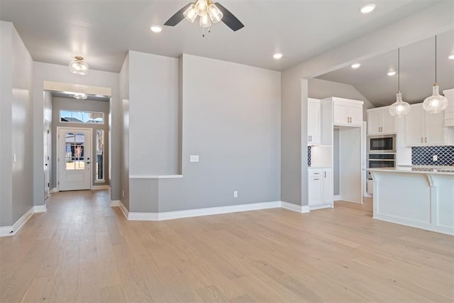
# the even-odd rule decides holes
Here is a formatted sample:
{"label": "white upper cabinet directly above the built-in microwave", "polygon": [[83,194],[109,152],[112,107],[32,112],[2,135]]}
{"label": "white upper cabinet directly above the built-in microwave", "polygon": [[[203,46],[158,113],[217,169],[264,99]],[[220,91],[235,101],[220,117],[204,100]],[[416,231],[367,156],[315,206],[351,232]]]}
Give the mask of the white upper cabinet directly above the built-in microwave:
{"label": "white upper cabinet directly above the built-in microwave", "polygon": [[389,106],[367,109],[368,135],[387,135],[396,132],[396,118],[389,114]]}

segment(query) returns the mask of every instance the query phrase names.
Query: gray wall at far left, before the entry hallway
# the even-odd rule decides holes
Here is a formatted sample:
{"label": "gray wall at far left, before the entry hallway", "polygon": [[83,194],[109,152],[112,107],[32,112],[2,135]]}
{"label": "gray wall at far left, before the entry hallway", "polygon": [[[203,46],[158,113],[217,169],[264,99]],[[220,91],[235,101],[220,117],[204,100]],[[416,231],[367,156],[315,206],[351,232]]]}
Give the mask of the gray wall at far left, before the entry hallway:
{"label": "gray wall at far left, before the entry hallway", "polygon": [[0,37],[0,226],[12,226],[33,207],[33,60],[12,23]]}

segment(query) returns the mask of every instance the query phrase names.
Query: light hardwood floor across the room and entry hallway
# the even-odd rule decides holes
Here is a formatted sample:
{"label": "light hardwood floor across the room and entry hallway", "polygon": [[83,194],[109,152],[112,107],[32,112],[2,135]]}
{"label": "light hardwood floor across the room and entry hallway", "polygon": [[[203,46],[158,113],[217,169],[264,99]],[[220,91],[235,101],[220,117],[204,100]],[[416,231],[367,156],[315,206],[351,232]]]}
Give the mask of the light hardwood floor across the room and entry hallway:
{"label": "light hardwood floor across the room and entry hallway", "polygon": [[126,221],[58,192],[0,238],[0,302],[453,302],[454,238],[364,205]]}

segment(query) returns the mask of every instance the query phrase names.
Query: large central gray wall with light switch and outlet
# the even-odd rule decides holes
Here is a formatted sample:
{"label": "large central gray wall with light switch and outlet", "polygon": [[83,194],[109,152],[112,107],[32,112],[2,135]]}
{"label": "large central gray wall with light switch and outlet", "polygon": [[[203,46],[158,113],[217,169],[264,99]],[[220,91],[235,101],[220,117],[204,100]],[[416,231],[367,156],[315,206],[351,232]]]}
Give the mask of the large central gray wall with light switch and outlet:
{"label": "large central gray wall with light switch and outlet", "polygon": [[184,54],[182,87],[183,177],[159,180],[159,211],[279,201],[280,73]]}

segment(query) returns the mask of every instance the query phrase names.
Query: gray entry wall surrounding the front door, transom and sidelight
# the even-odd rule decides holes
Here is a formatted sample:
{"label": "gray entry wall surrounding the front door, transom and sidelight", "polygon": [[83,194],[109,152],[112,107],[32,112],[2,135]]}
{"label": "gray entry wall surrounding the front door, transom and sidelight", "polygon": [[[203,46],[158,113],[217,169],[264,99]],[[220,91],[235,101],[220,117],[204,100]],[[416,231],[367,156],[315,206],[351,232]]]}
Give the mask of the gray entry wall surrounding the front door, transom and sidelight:
{"label": "gray entry wall surrounding the front door, transom and sidelight", "polygon": [[[77,100],[73,98],[52,98],[52,175],[57,176],[57,127],[75,127],[92,129],[92,167],[96,165],[96,129],[104,130],[104,182],[95,182],[96,170],[92,170],[92,184],[109,184],[109,102],[94,100]],[[60,121],[60,111],[96,111],[104,113],[104,124],[85,124],[85,123],[63,123]],[[52,187],[57,187],[55,178],[52,180]]]}

